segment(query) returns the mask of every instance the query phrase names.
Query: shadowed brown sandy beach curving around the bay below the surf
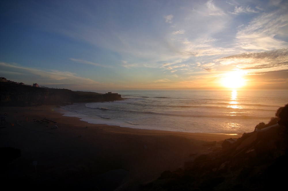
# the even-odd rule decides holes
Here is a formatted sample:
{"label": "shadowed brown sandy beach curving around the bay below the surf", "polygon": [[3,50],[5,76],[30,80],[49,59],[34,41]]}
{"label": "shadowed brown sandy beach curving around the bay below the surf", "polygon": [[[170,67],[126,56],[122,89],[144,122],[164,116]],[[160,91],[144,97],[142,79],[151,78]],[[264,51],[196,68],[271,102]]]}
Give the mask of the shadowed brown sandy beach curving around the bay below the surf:
{"label": "shadowed brown sandy beach curving around the bay below the surf", "polygon": [[[223,140],[241,136],[89,124],[57,109],[1,107],[1,117],[7,116],[0,147],[21,150],[5,166],[2,180],[72,190],[138,190],[163,171],[183,168],[185,161],[220,148]],[[217,144],[209,145],[212,141]]]}

